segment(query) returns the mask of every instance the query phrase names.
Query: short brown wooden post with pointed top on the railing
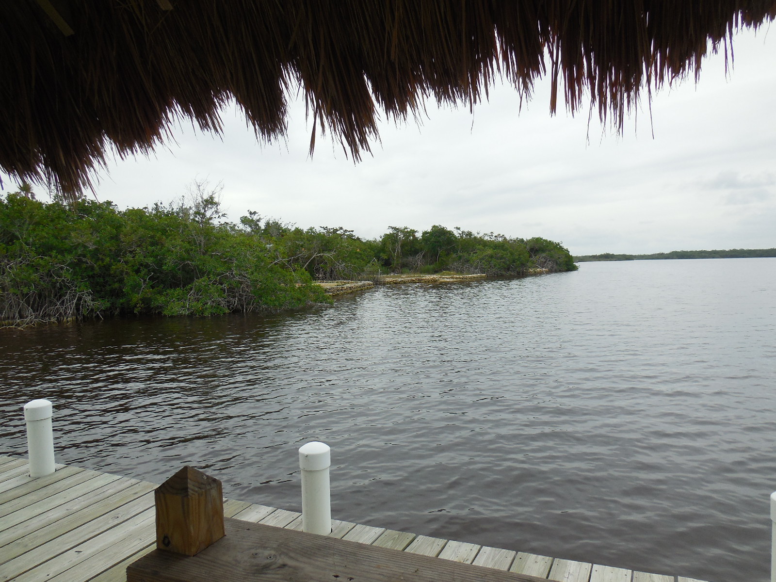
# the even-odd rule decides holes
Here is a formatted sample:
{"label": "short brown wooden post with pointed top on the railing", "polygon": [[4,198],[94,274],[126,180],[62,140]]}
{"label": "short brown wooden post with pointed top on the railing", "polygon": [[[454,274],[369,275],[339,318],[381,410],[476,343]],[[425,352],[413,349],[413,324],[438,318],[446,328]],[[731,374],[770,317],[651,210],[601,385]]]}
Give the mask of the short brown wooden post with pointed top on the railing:
{"label": "short brown wooden post with pointed top on the railing", "polygon": [[195,556],[223,538],[221,482],[190,466],[154,491],[156,547]]}

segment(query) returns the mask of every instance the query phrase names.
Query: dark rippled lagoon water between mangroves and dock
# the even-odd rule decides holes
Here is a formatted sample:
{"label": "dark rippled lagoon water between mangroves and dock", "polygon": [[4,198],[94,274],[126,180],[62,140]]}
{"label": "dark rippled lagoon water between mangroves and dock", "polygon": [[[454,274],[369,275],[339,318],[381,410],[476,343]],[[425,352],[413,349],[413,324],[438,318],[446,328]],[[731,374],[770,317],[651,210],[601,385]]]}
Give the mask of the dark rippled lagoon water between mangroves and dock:
{"label": "dark rippled lagoon water between mangroves and dock", "polygon": [[0,330],[0,454],[55,407],[57,460],[334,518],[702,580],[767,580],[776,258],[583,263],[380,287],[273,316]]}

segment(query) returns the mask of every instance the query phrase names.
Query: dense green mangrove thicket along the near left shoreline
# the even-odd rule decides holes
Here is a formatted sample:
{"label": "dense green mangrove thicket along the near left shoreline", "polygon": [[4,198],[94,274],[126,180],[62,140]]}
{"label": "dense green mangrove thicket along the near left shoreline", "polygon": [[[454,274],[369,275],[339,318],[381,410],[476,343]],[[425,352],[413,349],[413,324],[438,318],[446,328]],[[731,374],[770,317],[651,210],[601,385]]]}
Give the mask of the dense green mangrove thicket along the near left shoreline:
{"label": "dense green mangrove thicket along the near left shoreline", "polygon": [[121,314],[212,315],[326,301],[314,279],[388,272],[521,275],[576,268],[565,248],[495,234],[391,227],[373,241],[342,227],[303,230],[248,212],[223,221],[218,189],[151,209],[81,199],[0,198],[0,321]]}

